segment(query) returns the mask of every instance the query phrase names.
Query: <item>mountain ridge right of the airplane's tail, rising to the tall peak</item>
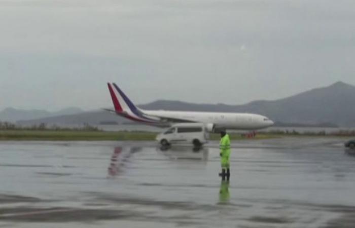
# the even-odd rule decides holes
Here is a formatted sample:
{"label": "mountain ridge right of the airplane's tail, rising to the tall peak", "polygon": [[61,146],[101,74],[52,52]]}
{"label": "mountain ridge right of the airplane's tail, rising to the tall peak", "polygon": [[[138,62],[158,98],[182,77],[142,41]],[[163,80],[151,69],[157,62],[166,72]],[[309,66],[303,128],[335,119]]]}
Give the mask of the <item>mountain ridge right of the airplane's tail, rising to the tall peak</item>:
{"label": "mountain ridge right of the airplane's tail, rising to the tall peak", "polygon": [[278,100],[257,100],[244,105],[184,105],[176,101],[156,101],[141,105],[142,108],[153,110],[167,106],[171,110],[259,113],[275,122],[283,123],[333,123],[339,126],[355,126],[355,87],[342,82]]}

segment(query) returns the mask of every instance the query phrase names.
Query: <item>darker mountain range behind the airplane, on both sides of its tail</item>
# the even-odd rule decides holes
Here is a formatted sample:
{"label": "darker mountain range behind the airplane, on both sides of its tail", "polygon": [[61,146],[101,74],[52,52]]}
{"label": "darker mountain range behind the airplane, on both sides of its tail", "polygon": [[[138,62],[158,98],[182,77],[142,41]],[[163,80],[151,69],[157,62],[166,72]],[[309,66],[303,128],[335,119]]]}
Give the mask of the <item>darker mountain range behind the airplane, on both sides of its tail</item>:
{"label": "darker mountain range behind the airplane, on both sides of its tail", "polygon": [[[196,104],[158,100],[138,106],[151,110],[252,112],[265,115],[274,122],[286,125],[327,124],[329,126],[355,127],[355,87],[342,82],[283,99],[258,100],[243,105]],[[41,113],[41,115],[45,115],[45,113]],[[77,115],[41,118],[20,123],[98,124],[100,122],[127,123],[131,121],[108,112],[96,111]]]}

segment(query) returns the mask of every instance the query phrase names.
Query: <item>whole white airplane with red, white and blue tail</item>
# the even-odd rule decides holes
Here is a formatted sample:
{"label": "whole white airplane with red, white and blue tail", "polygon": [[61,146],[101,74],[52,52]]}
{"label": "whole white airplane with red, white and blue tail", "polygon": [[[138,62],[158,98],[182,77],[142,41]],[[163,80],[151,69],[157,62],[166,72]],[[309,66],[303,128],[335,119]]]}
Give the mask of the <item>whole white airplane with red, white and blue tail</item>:
{"label": "whole white airplane with red, white and blue tail", "polygon": [[269,118],[252,113],[143,110],[115,83],[108,83],[108,87],[115,109],[104,110],[148,125],[170,127],[174,123],[203,123],[209,132],[216,132],[218,129],[258,130],[274,124]]}

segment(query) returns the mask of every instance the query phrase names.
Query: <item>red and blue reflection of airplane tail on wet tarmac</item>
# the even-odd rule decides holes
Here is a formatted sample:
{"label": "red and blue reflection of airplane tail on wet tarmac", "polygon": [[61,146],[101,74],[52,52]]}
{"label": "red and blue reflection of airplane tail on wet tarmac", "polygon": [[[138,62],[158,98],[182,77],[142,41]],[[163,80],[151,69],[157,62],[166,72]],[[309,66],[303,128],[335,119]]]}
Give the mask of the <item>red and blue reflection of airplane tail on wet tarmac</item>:
{"label": "red and blue reflection of airplane tail on wet tarmac", "polygon": [[123,171],[123,167],[129,162],[132,155],[140,150],[141,147],[115,147],[108,167],[108,177],[119,175]]}

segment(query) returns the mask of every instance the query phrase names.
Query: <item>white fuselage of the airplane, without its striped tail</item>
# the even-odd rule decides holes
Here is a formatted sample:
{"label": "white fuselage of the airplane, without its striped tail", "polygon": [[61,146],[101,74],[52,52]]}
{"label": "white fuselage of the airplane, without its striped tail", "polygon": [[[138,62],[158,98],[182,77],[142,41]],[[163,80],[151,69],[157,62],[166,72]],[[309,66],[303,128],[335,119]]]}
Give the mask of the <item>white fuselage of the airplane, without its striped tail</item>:
{"label": "white fuselage of the airplane, without its striped tail", "polygon": [[[187,122],[213,124],[215,128],[256,130],[273,125],[267,117],[251,113],[231,112],[199,112],[199,111],[166,111],[141,110],[148,116],[161,119],[179,119]],[[169,122],[169,121],[167,121]]]}

